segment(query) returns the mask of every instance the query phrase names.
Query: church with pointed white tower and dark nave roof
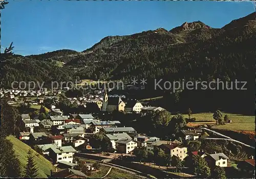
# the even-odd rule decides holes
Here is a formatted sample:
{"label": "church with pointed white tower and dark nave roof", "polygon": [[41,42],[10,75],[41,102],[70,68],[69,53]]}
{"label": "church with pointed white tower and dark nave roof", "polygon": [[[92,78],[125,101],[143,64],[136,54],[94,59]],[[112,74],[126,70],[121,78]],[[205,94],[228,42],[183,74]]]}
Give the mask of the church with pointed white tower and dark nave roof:
{"label": "church with pointed white tower and dark nave roof", "polygon": [[120,97],[108,97],[106,89],[104,90],[104,98],[102,104],[102,111],[113,112],[115,110],[124,111],[125,103]]}

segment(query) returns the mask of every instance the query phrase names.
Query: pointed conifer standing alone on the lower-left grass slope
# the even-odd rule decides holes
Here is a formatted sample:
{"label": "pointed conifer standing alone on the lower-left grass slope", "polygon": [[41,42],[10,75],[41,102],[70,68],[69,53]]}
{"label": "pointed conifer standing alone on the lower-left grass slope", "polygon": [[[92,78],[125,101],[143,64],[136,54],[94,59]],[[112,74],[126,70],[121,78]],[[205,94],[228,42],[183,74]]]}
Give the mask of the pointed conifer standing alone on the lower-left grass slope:
{"label": "pointed conifer standing alone on the lower-left grass slope", "polygon": [[26,178],[35,178],[37,176],[38,169],[36,167],[36,163],[33,156],[33,150],[29,149],[28,151],[28,163],[25,169],[25,177]]}

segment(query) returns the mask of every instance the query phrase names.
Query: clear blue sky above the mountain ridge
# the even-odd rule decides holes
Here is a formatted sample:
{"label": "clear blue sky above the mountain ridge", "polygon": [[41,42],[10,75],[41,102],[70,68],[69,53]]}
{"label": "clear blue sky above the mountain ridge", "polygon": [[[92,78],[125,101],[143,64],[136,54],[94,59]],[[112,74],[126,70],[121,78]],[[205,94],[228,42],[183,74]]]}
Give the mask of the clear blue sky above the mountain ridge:
{"label": "clear blue sky above the mountain ridge", "polygon": [[1,51],[13,41],[15,54],[31,55],[82,51],[105,36],[170,30],[185,21],[221,28],[255,10],[251,2],[23,0],[2,11]]}

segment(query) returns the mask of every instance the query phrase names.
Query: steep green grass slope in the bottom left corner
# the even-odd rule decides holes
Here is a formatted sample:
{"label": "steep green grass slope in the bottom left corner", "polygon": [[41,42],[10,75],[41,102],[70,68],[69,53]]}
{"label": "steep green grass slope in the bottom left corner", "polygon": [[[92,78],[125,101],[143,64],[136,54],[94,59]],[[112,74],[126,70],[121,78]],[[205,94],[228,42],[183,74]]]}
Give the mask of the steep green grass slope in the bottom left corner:
{"label": "steep green grass slope in the bottom left corner", "polygon": [[[23,143],[22,141],[18,140],[14,136],[9,136],[7,137],[12,143],[13,143],[13,148],[16,152],[16,155],[18,155],[19,161],[22,164],[23,171],[27,165],[27,152],[31,148],[27,144]],[[36,151],[34,151],[34,159],[36,161],[36,166],[38,168],[38,175],[37,177],[39,178],[47,178],[47,175],[50,175],[50,170],[52,169],[53,171],[54,166],[50,161],[39,155]]]}

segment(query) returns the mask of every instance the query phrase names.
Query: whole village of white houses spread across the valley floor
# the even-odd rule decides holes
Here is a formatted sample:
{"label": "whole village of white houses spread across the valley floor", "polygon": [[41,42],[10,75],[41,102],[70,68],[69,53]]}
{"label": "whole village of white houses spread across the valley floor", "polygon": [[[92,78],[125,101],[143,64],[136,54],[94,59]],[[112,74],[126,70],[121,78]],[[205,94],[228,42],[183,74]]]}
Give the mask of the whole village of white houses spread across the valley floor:
{"label": "whole village of white houses spread across the valley floor", "polygon": [[[116,161],[113,164],[118,166],[123,166],[122,161],[130,163],[139,161],[138,163],[141,165],[147,167],[155,165],[154,169],[166,170],[166,172],[169,169],[174,173],[181,172],[183,176],[187,177],[197,176],[188,174],[189,172],[186,172],[187,166],[184,164],[194,161],[193,156],[199,156],[203,159],[210,170],[216,166],[226,168],[233,164],[227,154],[223,152],[212,151],[209,153],[199,149],[200,147],[195,147],[197,142],[209,136],[203,129],[182,127],[182,130],[179,131],[179,138],[162,140],[162,137],[149,136],[140,133],[132,126],[124,125],[121,119],[106,120],[105,117],[102,117],[104,115],[111,116],[112,113],[116,112],[146,116],[147,114],[166,111],[162,107],[148,106],[148,104],[131,99],[131,97],[127,100],[129,96],[109,94],[110,90],[107,89],[96,90],[80,97],[66,97],[67,91],[48,91],[47,88],[43,88],[41,91],[1,89],[1,98],[7,97],[9,99],[8,105],[18,106],[24,112],[27,112],[28,108],[34,110],[34,112],[20,114],[22,121],[20,129],[23,131],[16,137],[31,146],[56,167],[56,170],[49,177],[70,177],[70,172],[73,172],[72,175],[84,178],[88,177],[89,171],[97,171],[96,165],[85,163],[86,172],[83,173],[78,165],[80,158],[101,162],[108,159]],[[63,98],[67,100],[67,103],[81,106],[84,109],[94,105],[93,108],[84,110],[84,112],[67,113],[58,108],[59,104],[63,103]],[[103,139],[99,140],[99,137]],[[103,147],[105,143],[110,144],[110,146]],[[155,161],[155,164],[152,164],[149,156],[158,156],[160,154],[155,153],[159,151],[163,151],[163,155],[169,156],[169,159]],[[177,160],[176,165],[174,162],[169,162],[174,161],[174,159]],[[143,162],[141,163],[141,161]],[[241,173],[253,174],[253,156],[238,162],[237,167]],[[154,173],[145,174],[148,177],[148,174],[153,175]],[[198,175],[205,176],[208,174],[198,171]]]}

